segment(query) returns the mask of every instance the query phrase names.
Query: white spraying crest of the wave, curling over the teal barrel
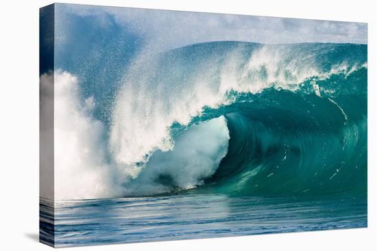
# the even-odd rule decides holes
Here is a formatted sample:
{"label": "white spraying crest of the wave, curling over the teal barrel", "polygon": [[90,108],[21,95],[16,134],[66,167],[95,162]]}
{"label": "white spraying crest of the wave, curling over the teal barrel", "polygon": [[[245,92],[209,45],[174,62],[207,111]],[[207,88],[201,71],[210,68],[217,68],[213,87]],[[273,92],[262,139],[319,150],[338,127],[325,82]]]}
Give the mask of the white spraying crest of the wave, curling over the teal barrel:
{"label": "white spraying crest of the wave, curling over the teal barrel", "polygon": [[136,176],[140,168],[135,163],[147,163],[158,149],[173,148],[173,124],[185,127],[206,107],[234,103],[234,92],[275,88],[326,96],[330,90],[317,82],[365,67],[363,49],[350,44],[210,42],[136,60],[112,116],[115,161]]}

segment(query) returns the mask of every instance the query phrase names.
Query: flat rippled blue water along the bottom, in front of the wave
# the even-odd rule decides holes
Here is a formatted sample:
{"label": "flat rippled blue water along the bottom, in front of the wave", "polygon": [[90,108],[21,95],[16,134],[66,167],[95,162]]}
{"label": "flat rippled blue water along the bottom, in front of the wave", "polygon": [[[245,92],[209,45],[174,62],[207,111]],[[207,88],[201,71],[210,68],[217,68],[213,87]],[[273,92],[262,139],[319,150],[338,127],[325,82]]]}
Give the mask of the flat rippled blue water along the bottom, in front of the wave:
{"label": "flat rippled blue water along the bottom, in front of the wave", "polygon": [[54,228],[56,247],[90,246],[361,228],[367,226],[367,200],[178,194],[56,202],[54,227],[48,215],[43,204],[41,241],[51,243]]}

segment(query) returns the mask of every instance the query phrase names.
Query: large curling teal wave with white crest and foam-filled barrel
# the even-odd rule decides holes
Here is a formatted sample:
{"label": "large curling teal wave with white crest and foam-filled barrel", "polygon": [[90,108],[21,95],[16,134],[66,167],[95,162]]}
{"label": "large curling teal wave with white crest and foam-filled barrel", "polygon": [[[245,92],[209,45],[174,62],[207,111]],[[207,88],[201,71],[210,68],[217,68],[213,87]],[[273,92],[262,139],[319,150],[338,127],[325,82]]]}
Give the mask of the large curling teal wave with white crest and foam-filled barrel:
{"label": "large curling teal wave with white crest and foam-filled barrel", "polygon": [[193,44],[138,57],[115,100],[87,142],[106,192],[81,198],[366,192],[365,45]]}

